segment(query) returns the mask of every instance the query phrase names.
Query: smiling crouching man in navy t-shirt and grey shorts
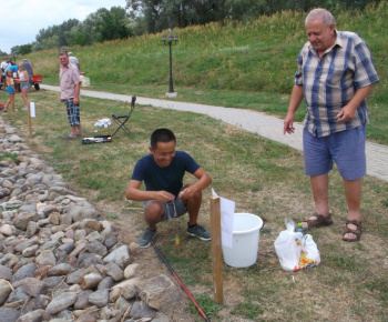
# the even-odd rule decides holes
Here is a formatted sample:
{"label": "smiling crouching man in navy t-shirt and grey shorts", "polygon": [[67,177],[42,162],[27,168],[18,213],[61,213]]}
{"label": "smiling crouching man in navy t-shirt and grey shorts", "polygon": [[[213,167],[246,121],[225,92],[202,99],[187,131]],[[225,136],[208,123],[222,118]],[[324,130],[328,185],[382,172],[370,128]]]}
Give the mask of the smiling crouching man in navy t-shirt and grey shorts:
{"label": "smiling crouching man in navy t-shirt and grey shorts", "polygon": [[[171,221],[188,212],[187,234],[203,241],[211,240],[208,230],[197,224],[202,190],[212,178],[184,151],[175,151],[176,139],[169,129],[157,129],[151,134],[150,154],[137,161],[126,188],[129,200],[144,202],[144,219],[149,228],[137,244],[147,248],[156,237],[156,223]],[[183,187],[185,172],[198,180]],[[144,181],[145,191],[140,187]]]}

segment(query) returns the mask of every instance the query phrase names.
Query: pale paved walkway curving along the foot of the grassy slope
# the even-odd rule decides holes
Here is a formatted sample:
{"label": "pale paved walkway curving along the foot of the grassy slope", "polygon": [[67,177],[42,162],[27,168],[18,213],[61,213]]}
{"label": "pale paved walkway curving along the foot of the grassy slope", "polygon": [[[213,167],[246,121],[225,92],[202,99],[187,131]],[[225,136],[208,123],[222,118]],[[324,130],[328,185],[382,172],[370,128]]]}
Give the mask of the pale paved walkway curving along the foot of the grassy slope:
{"label": "pale paved walkway curving along the foot of the grassy slope", "polygon": [[[40,85],[42,89],[59,91],[58,87]],[[81,90],[81,95],[93,97],[99,99],[131,101],[131,95],[113,94],[106,92],[95,92]],[[177,111],[188,111],[210,115],[211,118],[221,120],[243,128],[252,133],[279,142],[303,151],[302,144],[302,124],[294,124],[295,133],[289,135],[283,134],[283,120],[266,114],[243,109],[222,108],[195,103],[176,102],[169,100],[157,100],[137,97],[136,103],[142,105],[153,105],[155,108],[172,109]],[[377,177],[388,181],[388,147],[367,142],[367,174]]]}

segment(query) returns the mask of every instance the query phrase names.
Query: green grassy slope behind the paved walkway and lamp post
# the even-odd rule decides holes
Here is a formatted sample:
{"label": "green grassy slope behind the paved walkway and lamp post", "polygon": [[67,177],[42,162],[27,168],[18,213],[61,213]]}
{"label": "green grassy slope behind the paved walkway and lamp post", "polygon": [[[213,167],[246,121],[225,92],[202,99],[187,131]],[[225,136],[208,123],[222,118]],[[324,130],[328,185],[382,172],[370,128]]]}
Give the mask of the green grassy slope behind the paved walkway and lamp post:
{"label": "green grassy slope behind the paved walkway and lamp post", "polygon": [[[368,43],[380,82],[369,101],[368,138],[388,144],[388,2],[363,12],[333,12],[338,30],[358,32]],[[229,21],[176,29],[173,47],[175,100],[248,108],[283,118],[296,58],[306,42],[305,12],[280,12],[242,23]],[[164,98],[169,89],[169,47],[162,33],[71,48],[92,88]],[[32,53],[37,73],[58,83],[58,50]],[[304,108],[297,120],[302,121]]]}

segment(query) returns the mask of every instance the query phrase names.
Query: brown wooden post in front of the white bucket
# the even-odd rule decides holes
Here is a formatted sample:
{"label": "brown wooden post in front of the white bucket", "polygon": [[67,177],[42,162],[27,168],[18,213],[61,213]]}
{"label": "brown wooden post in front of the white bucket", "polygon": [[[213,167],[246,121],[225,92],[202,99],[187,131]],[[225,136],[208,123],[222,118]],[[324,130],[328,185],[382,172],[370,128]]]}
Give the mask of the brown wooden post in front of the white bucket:
{"label": "brown wooden post in front of the white bucket", "polygon": [[221,207],[219,197],[211,199],[212,264],[213,294],[216,303],[224,301],[223,291],[223,254],[221,242]]}

